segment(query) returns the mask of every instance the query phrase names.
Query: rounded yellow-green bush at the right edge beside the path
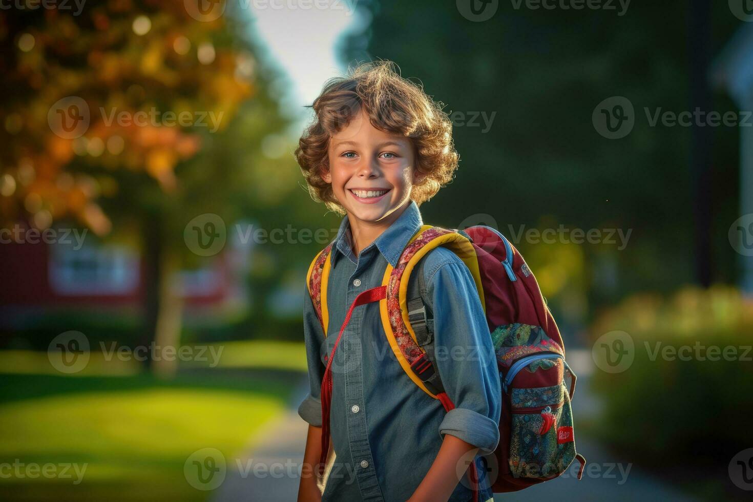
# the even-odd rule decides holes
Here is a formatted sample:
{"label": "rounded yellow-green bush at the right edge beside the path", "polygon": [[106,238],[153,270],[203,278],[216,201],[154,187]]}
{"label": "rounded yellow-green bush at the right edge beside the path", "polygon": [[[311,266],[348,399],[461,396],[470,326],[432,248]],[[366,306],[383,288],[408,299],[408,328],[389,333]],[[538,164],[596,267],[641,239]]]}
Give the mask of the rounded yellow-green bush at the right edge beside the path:
{"label": "rounded yellow-green bush at the right edge beside the path", "polygon": [[724,286],[639,295],[599,316],[592,339],[614,330],[632,338],[635,359],[621,373],[593,376],[603,439],[655,465],[722,470],[753,446],[751,300]]}

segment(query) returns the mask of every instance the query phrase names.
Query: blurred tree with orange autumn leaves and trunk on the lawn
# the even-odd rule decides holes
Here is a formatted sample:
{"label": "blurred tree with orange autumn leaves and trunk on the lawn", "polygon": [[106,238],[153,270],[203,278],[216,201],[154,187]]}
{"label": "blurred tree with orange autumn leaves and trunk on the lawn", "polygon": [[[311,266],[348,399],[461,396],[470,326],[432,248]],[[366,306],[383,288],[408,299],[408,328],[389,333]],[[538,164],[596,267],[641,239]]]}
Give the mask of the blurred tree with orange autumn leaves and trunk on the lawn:
{"label": "blurred tree with orange autumn leaves and trunk on the lawn", "polygon": [[[142,341],[174,346],[181,301],[168,279],[191,256],[186,214],[235,218],[239,198],[253,196],[239,180],[255,164],[231,172],[212,154],[227,148],[215,138],[264,86],[242,17],[202,17],[187,5],[0,11],[2,223],[44,229],[72,217],[97,236],[133,225],[147,280]],[[285,125],[273,100],[255,106],[268,131]],[[258,151],[260,141],[235,146]]]}

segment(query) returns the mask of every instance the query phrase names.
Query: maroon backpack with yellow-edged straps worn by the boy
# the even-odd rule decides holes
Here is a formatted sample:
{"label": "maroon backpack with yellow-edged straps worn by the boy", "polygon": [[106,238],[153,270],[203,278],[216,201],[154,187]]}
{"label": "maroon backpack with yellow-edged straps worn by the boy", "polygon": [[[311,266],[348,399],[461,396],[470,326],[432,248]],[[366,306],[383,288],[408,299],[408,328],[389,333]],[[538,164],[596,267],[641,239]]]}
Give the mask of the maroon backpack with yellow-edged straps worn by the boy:
{"label": "maroon backpack with yellow-edged straps worn by the boy", "polygon": [[[330,243],[316,255],[306,275],[312,303],[327,336]],[[321,474],[329,451],[331,364],[352,310],[379,301],[389,345],[408,377],[426,394],[454,408],[434,365],[433,318],[425,297],[422,258],[431,249],[449,248],[468,266],[489,325],[501,379],[500,440],[484,457],[495,493],[518,491],[564,473],[577,459],[581,479],[585,459],[575,451],[570,401],[575,373],[565,361],[565,345],[538,283],[520,252],[497,230],[478,225],[465,230],[422,226],[408,242],[393,269],[387,264],[383,283],[353,301],[340,327],[322,379]],[[418,266],[418,281],[410,281]],[[410,287],[409,287],[410,286]],[[570,376],[566,386],[566,373]],[[476,464],[468,470],[474,501],[480,480]],[[486,485],[488,486],[488,485]]]}

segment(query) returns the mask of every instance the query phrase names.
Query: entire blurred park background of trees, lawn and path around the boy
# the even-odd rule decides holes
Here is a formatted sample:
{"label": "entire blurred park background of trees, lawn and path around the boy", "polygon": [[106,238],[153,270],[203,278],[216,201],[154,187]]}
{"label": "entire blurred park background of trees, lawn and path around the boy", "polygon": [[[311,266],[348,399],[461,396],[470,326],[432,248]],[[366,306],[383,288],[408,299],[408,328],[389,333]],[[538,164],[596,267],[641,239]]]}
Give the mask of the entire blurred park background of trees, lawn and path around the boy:
{"label": "entire blurred park background of trees, lawn and path around the boy", "polygon": [[461,163],[425,223],[520,249],[589,461],[497,500],[753,490],[753,2],[3,0],[0,497],[294,500],[292,151],[391,59]]}

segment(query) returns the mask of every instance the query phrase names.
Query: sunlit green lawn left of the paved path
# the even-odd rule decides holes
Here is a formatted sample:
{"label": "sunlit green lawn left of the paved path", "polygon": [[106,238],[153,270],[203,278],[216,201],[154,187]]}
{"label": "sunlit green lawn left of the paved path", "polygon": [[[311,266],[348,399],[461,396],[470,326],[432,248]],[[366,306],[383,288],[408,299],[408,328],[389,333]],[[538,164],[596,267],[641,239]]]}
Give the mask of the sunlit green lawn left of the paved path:
{"label": "sunlit green lawn left of the paved path", "polygon": [[[293,371],[300,357],[287,361],[276,344],[264,357],[260,347],[251,352],[266,364],[240,364],[234,350],[224,370],[184,369],[171,380],[0,374],[0,499],[206,500],[212,491],[187,482],[189,456],[217,449],[231,469],[303,378]],[[283,361],[278,370],[273,361]],[[47,479],[45,468],[59,474]]]}

